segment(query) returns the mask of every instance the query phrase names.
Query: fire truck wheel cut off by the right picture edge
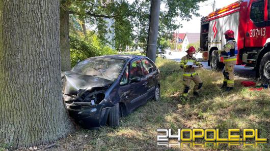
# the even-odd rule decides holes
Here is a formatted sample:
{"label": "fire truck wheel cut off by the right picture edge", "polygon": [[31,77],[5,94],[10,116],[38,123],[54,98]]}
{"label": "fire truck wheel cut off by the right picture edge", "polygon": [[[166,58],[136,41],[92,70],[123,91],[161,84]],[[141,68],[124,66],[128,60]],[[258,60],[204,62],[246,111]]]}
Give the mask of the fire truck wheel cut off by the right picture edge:
{"label": "fire truck wheel cut off by the right picture edge", "polygon": [[264,84],[269,84],[270,80],[270,52],[264,54],[260,63],[260,79]]}

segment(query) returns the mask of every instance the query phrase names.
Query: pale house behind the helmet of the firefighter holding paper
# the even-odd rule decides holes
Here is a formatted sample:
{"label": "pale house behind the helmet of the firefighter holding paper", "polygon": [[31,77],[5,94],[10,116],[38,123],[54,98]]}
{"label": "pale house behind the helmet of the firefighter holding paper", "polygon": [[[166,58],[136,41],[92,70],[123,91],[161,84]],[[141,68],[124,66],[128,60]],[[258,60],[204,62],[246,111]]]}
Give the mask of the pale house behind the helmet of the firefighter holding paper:
{"label": "pale house behind the helmet of the firefighter holding paper", "polygon": [[187,50],[188,44],[195,44],[200,42],[200,33],[186,33],[183,42],[182,42],[182,50]]}

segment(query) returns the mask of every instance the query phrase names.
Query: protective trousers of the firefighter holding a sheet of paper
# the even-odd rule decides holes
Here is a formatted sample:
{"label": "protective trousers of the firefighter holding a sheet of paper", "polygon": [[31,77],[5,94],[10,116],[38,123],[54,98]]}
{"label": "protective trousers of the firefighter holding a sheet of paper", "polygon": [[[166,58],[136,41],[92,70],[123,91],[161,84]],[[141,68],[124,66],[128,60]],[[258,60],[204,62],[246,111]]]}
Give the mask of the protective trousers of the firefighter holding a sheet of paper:
{"label": "protective trousers of the firefighter holding a sheet of paper", "polygon": [[184,77],[183,78],[183,85],[184,85],[184,91],[182,96],[187,97],[188,90],[190,90],[191,81],[195,83],[195,86],[193,88],[194,92],[199,92],[199,90],[202,88],[203,82],[198,74],[192,75],[191,77]]}

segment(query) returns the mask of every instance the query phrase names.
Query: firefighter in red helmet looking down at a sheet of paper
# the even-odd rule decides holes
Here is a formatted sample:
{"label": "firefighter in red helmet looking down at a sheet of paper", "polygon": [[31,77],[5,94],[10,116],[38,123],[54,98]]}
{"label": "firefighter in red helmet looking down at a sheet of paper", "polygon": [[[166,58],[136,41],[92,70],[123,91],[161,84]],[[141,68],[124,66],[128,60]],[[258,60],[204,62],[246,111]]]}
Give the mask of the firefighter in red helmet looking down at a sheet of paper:
{"label": "firefighter in red helmet looking down at a sheet of paper", "polygon": [[[198,73],[195,72],[195,68],[193,65],[197,65],[199,67],[202,67],[202,64],[200,62],[197,62],[196,58],[193,57],[193,54],[195,54],[196,49],[191,46],[186,51],[187,55],[182,57],[180,62],[180,67],[184,69],[183,73],[183,85],[184,90],[182,93],[182,97],[184,99],[187,98],[188,90],[190,90],[191,81],[194,81],[195,86],[193,88],[193,94],[194,96],[198,96],[199,90],[202,88],[203,82],[201,78],[199,77]],[[186,65],[187,62],[192,62],[193,65]]]}

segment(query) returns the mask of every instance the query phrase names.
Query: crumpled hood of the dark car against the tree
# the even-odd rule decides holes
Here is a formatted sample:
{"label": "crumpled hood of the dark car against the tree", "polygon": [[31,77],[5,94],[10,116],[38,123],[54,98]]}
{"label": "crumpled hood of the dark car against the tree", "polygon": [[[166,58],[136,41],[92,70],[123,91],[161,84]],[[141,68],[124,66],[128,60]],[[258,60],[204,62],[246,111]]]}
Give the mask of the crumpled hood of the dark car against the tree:
{"label": "crumpled hood of the dark car against the tree", "polygon": [[68,71],[62,72],[63,93],[77,94],[79,89],[104,87],[113,83],[111,80],[95,77],[93,75],[79,74]]}

